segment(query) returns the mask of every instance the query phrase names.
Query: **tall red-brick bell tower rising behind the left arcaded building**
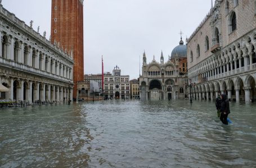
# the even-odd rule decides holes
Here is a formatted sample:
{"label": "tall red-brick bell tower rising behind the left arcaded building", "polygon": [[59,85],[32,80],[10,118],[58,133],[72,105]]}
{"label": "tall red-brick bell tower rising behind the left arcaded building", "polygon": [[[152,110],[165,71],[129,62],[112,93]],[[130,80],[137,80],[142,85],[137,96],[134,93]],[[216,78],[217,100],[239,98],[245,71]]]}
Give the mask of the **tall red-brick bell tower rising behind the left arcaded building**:
{"label": "tall red-brick bell tower rising behind the left arcaded building", "polygon": [[52,0],[51,41],[73,50],[73,98],[77,98],[77,82],[83,81],[83,0]]}

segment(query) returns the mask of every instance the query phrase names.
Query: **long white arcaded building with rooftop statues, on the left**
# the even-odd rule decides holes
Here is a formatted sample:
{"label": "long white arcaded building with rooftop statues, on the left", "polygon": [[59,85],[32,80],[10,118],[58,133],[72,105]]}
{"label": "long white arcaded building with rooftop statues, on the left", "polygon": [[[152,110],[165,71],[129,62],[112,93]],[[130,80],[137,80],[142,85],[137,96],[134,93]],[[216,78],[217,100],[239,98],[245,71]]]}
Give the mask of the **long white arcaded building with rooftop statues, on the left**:
{"label": "long white arcaded building with rooftop statues, on the left", "polygon": [[[72,97],[73,58],[51,44],[0,4],[0,82],[9,88],[1,99],[63,101]],[[39,27],[38,27],[39,29]],[[65,97],[65,98],[64,98]]]}

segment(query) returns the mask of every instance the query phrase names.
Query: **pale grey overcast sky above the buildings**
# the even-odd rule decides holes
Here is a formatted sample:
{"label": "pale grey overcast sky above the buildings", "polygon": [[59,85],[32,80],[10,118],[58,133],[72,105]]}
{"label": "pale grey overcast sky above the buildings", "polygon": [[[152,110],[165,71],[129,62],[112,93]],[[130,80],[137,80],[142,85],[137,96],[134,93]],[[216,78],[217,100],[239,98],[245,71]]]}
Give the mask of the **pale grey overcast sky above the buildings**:
{"label": "pale grey overcast sky above the buildings", "polygon": [[[69,1],[69,0],[66,0]],[[2,0],[3,7],[39,32],[51,32],[51,0]],[[84,1],[84,73],[101,73],[114,66],[130,80],[138,78],[140,57],[147,63],[153,55],[160,62],[172,53],[200,24],[211,7],[211,0],[86,0]],[[141,61],[142,63],[142,61]]]}

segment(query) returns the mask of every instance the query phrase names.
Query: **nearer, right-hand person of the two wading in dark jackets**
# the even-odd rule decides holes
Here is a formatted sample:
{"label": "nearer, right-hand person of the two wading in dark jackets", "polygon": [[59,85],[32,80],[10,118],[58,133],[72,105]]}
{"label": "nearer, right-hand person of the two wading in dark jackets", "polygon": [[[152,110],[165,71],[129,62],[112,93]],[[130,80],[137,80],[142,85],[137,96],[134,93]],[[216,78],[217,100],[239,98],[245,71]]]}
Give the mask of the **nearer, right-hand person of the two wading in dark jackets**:
{"label": "nearer, right-hand person of the two wading in dark jackets", "polygon": [[226,94],[221,95],[221,121],[223,124],[228,125],[227,116],[230,114],[230,103]]}

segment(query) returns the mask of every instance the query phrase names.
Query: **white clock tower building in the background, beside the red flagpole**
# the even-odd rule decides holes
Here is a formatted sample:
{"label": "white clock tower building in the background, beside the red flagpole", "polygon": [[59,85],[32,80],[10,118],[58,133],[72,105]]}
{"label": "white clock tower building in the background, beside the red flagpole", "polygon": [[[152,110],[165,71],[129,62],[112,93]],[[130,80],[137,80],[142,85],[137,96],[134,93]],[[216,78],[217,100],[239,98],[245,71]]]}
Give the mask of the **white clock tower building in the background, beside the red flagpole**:
{"label": "white clock tower building in the background, beside the red flagpole", "polygon": [[121,69],[114,67],[113,74],[104,74],[105,99],[130,99],[129,75],[121,75]]}

